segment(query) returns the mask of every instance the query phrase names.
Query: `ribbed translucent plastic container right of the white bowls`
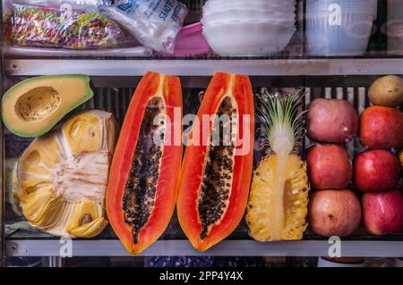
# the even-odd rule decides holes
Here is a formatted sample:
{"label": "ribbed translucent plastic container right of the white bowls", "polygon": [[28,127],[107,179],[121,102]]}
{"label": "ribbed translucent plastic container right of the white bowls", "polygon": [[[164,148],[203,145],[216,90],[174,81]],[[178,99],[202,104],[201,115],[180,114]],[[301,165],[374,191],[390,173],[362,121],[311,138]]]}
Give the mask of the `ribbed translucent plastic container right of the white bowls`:
{"label": "ribbed translucent plastic container right of the white bowls", "polygon": [[[329,4],[330,2],[332,4]],[[308,0],[306,4],[308,53],[316,56],[364,54],[376,18],[374,8],[376,6],[376,0],[354,2]]]}

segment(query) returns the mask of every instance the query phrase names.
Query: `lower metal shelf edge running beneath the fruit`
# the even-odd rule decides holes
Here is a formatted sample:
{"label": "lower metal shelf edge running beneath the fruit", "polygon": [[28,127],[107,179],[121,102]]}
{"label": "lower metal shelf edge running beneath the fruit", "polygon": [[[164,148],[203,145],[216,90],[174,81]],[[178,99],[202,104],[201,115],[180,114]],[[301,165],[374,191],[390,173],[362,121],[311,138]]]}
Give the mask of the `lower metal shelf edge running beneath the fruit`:
{"label": "lower metal shelf edge running beneath the fruit", "polygon": [[[9,240],[7,256],[60,256],[59,240]],[[224,240],[198,252],[187,240],[159,240],[140,256],[329,256],[327,240]],[[73,256],[130,256],[119,240],[73,240]],[[403,241],[342,241],[341,256],[402,257]]]}

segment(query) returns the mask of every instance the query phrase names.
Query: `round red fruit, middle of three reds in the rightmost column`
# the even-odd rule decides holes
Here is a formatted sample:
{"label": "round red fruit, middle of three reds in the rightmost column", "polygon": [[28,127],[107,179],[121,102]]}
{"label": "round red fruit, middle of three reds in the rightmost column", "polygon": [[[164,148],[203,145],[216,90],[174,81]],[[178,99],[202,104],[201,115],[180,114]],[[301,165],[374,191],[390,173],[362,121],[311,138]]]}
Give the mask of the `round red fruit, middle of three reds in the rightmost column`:
{"label": "round red fruit, middle of three reds in the rightmost column", "polygon": [[354,182],[364,192],[394,189],[400,180],[400,163],[387,150],[370,150],[356,156]]}

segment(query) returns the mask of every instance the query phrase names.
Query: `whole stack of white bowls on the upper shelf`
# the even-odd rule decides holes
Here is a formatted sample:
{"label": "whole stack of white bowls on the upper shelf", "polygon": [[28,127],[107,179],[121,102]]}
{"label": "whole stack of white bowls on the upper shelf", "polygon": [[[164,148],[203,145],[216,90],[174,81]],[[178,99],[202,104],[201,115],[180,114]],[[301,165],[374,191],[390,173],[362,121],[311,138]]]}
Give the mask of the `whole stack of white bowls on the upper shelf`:
{"label": "whole stack of white bowls on the upper shelf", "polygon": [[209,0],[203,35],[224,56],[263,56],[282,51],[296,31],[295,0]]}

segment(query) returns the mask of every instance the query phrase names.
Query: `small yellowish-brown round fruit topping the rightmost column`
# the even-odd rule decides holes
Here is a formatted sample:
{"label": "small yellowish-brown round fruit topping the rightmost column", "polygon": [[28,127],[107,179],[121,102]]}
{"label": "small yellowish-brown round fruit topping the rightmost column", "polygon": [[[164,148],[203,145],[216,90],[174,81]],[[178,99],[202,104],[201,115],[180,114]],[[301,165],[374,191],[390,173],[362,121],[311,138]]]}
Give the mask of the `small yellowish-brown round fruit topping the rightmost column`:
{"label": "small yellowish-brown round fruit topping the rightmost column", "polygon": [[397,107],[403,104],[403,80],[395,75],[383,76],[373,81],[368,96],[373,105]]}

